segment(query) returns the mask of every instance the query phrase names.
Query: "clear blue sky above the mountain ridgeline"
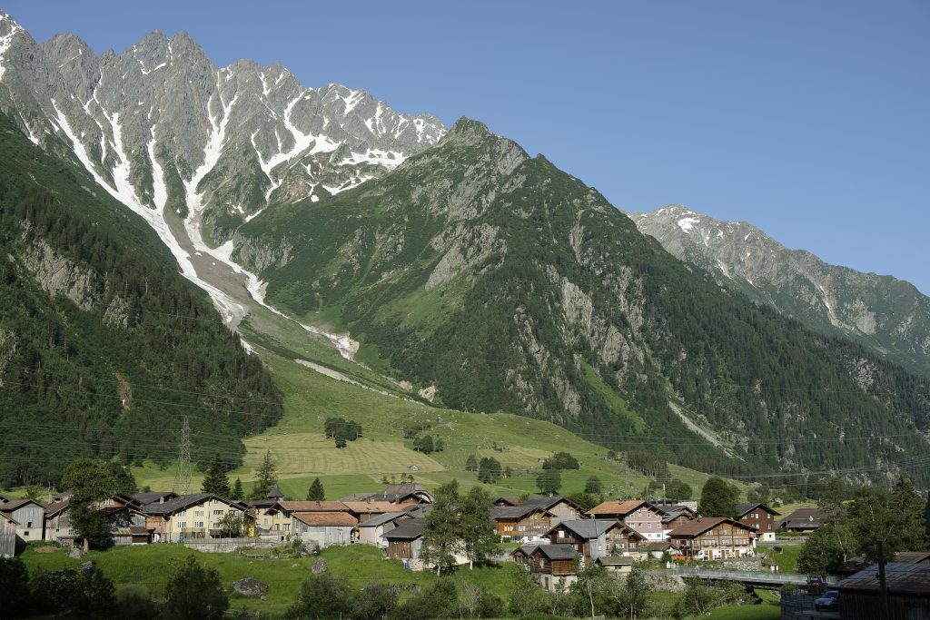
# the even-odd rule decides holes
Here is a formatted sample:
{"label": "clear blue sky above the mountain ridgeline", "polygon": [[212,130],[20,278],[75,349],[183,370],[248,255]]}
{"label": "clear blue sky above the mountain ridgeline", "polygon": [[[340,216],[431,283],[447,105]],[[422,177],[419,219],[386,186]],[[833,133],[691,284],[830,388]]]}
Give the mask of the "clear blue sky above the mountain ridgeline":
{"label": "clear blue sky above the mountain ridgeline", "polygon": [[98,53],[186,30],[541,152],[618,207],[685,204],[930,294],[930,1],[0,0]]}

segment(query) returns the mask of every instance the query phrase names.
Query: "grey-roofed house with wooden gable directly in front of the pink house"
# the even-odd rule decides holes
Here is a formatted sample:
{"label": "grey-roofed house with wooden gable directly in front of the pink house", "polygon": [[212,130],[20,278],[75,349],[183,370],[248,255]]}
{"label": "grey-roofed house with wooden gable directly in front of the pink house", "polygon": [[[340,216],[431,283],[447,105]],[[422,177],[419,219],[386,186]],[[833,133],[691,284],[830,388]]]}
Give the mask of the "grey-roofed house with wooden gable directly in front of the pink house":
{"label": "grey-roofed house with wooden gable directly in front of the pink house", "polygon": [[553,525],[546,537],[553,545],[571,545],[585,566],[608,555],[644,560],[647,553],[645,537],[616,519],[562,521]]}

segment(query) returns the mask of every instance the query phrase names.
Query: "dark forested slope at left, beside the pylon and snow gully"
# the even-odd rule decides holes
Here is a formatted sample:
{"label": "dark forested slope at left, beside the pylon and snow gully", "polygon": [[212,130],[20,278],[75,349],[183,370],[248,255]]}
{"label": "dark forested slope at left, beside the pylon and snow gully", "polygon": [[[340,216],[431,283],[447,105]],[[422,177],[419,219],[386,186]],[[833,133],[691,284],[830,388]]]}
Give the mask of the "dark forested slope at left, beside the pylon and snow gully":
{"label": "dark forested slope at left, beside the pylon and snow gully", "polygon": [[78,455],[245,453],[281,396],[153,231],[0,115],[0,484],[56,483]]}

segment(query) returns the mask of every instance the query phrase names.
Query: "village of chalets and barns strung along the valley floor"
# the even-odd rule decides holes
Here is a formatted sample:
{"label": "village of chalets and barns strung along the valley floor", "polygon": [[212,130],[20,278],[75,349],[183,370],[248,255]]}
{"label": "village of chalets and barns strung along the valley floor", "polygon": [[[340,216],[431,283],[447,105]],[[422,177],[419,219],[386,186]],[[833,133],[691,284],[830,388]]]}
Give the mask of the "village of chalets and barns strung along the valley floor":
{"label": "village of chalets and barns strung along the valley floor", "polygon": [[[0,495],[0,556],[13,557],[30,543],[45,542],[80,557],[81,540],[71,521],[70,500],[68,494],[54,495],[48,504]],[[418,571],[433,568],[421,553],[433,500],[432,493],[416,482],[388,484],[380,491],[354,493],[338,501],[288,500],[275,485],[258,500],[145,492],[108,496],[97,502],[96,509],[108,524],[113,546],[174,544],[205,552],[242,553],[295,545],[316,553],[327,547],[365,545]],[[739,505],[738,512],[737,519],[704,516],[697,514],[697,502],[660,504],[642,499],[607,500],[585,510],[562,495],[525,495],[495,498],[488,511],[488,529],[505,544],[495,561],[523,566],[540,588],[559,592],[591,566],[621,575],[646,561],[666,568],[686,563],[745,569],[757,557],[758,543],[775,542],[776,533],[804,535],[821,524],[817,508],[799,508],[782,518],[774,508],[746,503]],[[460,547],[453,555],[458,564],[470,561]],[[930,553],[897,555],[897,563],[888,565],[890,579],[901,566],[906,567],[905,578],[913,577],[914,571],[930,574]],[[863,580],[874,566],[860,560],[850,562],[850,567],[846,594],[852,596],[858,584],[867,596],[877,595],[873,584]],[[846,582],[839,584],[843,591]]]}

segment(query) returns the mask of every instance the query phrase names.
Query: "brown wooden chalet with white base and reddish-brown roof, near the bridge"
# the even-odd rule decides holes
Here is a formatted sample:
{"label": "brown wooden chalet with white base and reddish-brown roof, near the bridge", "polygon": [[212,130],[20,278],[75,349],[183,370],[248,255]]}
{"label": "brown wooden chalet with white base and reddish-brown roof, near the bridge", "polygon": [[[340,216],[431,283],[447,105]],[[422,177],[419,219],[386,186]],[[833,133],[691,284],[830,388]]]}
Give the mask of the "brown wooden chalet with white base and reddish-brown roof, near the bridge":
{"label": "brown wooden chalet with white base and reddish-brown roof, near the bridge", "polygon": [[755,551],[756,529],[725,517],[685,523],[669,534],[671,546],[694,560],[745,558]]}

